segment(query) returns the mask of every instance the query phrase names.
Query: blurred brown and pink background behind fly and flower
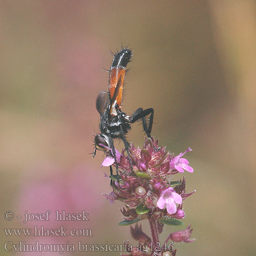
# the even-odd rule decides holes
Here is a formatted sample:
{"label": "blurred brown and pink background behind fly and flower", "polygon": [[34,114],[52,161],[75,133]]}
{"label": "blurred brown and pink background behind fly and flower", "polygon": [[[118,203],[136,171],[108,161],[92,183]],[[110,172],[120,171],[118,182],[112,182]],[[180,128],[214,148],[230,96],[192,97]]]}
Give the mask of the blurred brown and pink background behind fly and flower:
{"label": "blurred brown and pink background behind fly and flower", "polygon": [[[184,175],[186,191],[197,192],[183,204],[185,226],[165,226],[160,239],[191,223],[197,240],[176,244],[177,255],[255,255],[255,1],[2,1],[0,12],[1,255],[11,254],[7,241],[136,244],[118,226],[122,203],[102,196],[111,191],[103,154],[90,154],[95,99],[108,90],[102,68],[121,44],[134,51],[122,110],[154,108],[160,144],[176,155],[193,148],[186,158],[195,172]],[[138,123],[128,139],[142,146]],[[7,210],[85,210],[90,221],[23,224],[4,220]],[[35,240],[3,231],[34,225],[91,228],[93,236]],[[16,253],[37,254],[59,255]]]}

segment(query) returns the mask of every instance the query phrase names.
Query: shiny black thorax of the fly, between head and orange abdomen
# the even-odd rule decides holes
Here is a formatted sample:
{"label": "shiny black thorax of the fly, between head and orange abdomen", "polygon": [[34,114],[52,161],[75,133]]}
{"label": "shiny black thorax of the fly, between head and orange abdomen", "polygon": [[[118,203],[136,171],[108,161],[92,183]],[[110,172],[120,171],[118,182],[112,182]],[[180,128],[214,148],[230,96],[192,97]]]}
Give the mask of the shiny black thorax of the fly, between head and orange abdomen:
{"label": "shiny black thorax of the fly, between head and orange abdomen", "polygon": [[99,129],[102,134],[109,135],[113,138],[121,137],[120,126],[122,126],[124,134],[131,129],[130,117],[121,110],[117,109],[117,115],[111,116],[109,110],[106,109],[102,115],[99,123]]}

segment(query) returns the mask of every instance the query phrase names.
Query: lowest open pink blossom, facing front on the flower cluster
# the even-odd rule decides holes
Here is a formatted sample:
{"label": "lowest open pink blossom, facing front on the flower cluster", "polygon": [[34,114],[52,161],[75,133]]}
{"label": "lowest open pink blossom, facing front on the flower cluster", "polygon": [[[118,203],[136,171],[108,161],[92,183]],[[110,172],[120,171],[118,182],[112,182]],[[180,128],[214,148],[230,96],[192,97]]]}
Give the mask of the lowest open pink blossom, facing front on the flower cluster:
{"label": "lowest open pink blossom, facing front on the flower cluster", "polygon": [[157,201],[157,207],[163,209],[166,205],[168,214],[175,214],[177,211],[176,204],[182,203],[182,198],[177,194],[173,187],[168,187],[162,191],[161,197]]}

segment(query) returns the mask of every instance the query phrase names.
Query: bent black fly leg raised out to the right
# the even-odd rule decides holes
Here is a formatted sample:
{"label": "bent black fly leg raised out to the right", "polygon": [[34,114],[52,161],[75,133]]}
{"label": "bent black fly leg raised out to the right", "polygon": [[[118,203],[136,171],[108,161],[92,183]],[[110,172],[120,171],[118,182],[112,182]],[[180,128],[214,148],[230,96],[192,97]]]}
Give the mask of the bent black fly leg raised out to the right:
{"label": "bent black fly leg raised out to the right", "polygon": [[[149,123],[147,125],[146,122],[146,116],[150,114],[150,119],[149,119]],[[148,138],[151,138],[151,130],[152,130],[152,126],[153,126],[153,119],[154,119],[154,109],[150,108],[150,109],[146,109],[143,110],[142,108],[137,109],[131,116],[130,122],[134,123],[136,122],[138,119],[142,120],[142,124],[143,124],[143,130],[145,131],[146,135]]]}

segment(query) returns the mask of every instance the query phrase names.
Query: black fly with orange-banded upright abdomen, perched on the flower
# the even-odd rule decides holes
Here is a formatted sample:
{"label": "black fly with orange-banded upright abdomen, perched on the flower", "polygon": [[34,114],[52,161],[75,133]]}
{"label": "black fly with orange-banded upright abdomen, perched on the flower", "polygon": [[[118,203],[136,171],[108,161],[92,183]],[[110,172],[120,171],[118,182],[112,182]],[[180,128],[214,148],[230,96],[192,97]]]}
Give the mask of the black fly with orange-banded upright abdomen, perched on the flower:
{"label": "black fly with orange-banded upright abdomen, perched on the flower", "polygon": [[[93,157],[95,157],[97,150],[112,154],[115,159],[118,177],[118,163],[113,139],[119,138],[123,141],[131,170],[133,171],[133,164],[129,153],[130,144],[127,142],[125,135],[131,130],[131,124],[141,119],[145,134],[151,138],[154,109],[149,108],[143,110],[139,108],[131,116],[122,112],[121,101],[124,77],[126,66],[132,58],[132,51],[131,49],[122,47],[119,52],[113,55],[111,69],[109,71],[109,91],[100,92],[96,99],[96,109],[100,114],[100,134],[97,134],[94,138],[95,150]],[[150,115],[148,123],[145,118],[147,115]],[[110,166],[110,173],[111,175],[113,174],[112,166]]]}

